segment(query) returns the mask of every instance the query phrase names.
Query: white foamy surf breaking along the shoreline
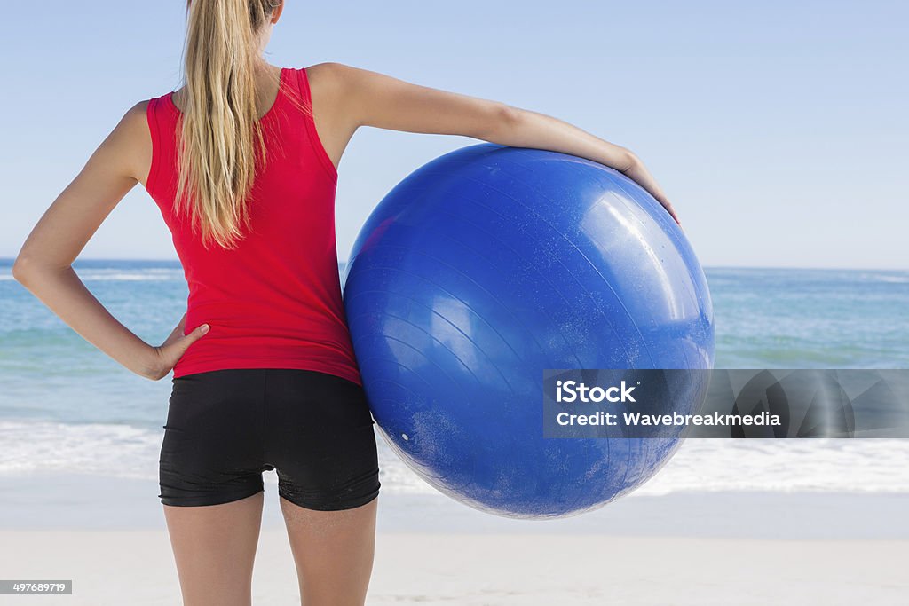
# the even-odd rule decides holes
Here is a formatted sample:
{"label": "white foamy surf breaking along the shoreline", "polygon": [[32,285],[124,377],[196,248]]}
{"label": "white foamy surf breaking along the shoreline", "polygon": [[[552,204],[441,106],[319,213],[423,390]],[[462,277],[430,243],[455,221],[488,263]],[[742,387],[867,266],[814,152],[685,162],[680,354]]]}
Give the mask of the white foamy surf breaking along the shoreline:
{"label": "white foamy surf breaking along the shoreline", "polygon": [[[158,432],[114,423],[0,422],[0,476],[78,472],[157,479]],[[434,493],[378,438],[383,490]],[[909,492],[907,440],[688,440],[633,493]]]}

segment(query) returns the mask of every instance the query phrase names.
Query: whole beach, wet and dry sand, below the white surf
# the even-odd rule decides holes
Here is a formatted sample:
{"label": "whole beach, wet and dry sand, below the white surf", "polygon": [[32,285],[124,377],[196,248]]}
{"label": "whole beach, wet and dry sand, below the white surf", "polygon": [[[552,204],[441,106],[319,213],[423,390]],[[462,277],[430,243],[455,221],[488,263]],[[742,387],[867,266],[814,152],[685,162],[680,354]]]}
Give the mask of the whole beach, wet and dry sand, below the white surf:
{"label": "whole beach, wet and dry sand, below the white surf", "polygon": [[[3,603],[180,603],[160,506],[136,501],[147,482],[96,478],[67,486],[56,480],[64,485],[44,490],[68,489],[75,508],[96,502],[107,510],[92,517],[94,527],[53,527],[65,522],[58,517],[43,518],[52,523],[41,530],[27,529],[25,521],[3,528],[0,569],[5,578],[72,580],[73,595],[6,597]],[[9,488],[3,482],[5,493]],[[299,603],[275,486],[266,482],[265,492],[254,603]],[[390,491],[379,498],[367,600],[376,606],[896,605],[909,596],[906,494],[630,496],[549,522],[496,518],[441,495]],[[5,522],[24,514],[6,502],[2,512]]]}

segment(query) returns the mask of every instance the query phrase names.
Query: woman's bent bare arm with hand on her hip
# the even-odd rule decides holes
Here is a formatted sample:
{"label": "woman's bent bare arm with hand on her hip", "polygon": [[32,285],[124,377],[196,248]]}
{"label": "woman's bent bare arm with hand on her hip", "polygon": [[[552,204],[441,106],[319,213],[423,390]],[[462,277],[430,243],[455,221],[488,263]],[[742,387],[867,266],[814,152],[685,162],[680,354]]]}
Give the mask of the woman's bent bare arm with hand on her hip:
{"label": "woman's bent bare arm with hand on her hip", "polygon": [[126,112],[45,211],[15,259],[13,276],[86,341],[134,373],[156,381],[202,336],[202,327],[184,336],[181,320],[165,343],[153,347],[117,321],[72,267],[107,215],[139,182],[141,167],[149,164],[151,135],[145,107],[142,102]]}

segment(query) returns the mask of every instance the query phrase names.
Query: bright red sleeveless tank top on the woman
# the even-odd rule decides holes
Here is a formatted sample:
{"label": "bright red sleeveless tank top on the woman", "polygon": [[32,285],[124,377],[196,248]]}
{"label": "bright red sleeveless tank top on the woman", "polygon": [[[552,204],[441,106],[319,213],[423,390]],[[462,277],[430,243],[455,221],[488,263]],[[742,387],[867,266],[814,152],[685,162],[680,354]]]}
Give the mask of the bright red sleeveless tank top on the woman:
{"label": "bright red sleeveless tank top on the woman", "polygon": [[315,123],[289,98],[312,107],[305,68],[281,69],[275,103],[262,116],[267,166],[251,192],[251,231],[234,250],[206,250],[175,214],[173,93],[151,99],[152,164],[146,189],[161,210],[183,264],[189,298],[185,333],[208,323],[174,367],[174,377],[227,368],[296,368],[361,384],[347,332],[335,244],[337,171]]}

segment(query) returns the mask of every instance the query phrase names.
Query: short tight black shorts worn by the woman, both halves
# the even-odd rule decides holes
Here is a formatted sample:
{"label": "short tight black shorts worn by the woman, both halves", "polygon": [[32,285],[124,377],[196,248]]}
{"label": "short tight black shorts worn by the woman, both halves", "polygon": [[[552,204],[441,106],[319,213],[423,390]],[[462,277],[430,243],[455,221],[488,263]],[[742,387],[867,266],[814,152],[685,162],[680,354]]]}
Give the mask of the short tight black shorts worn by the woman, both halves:
{"label": "short tight black shorts worn by the woman, both halves", "polygon": [[263,491],[335,511],[379,493],[373,417],[360,385],[334,374],[243,368],[173,379],[158,479],[165,505],[215,505]]}

